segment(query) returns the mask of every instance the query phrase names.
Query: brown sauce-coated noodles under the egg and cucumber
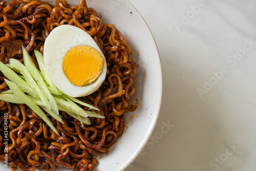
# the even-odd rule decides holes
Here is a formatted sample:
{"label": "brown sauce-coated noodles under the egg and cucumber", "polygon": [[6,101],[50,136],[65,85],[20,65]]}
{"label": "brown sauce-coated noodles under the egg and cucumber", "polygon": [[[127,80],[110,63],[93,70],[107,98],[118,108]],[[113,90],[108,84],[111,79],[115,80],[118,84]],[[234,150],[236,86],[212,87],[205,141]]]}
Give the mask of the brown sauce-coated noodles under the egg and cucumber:
{"label": "brown sauce-coated noodles under the egg and cucumber", "polygon": [[[56,5],[30,0],[14,0],[7,5],[0,1],[0,61],[9,63],[10,58],[15,58],[23,62],[23,45],[38,67],[33,51],[43,53],[49,33],[63,24],[90,34],[106,58],[108,69],[100,89],[79,98],[99,108],[100,111],[92,111],[105,118],[90,118],[92,124],[82,127],[65,112],[60,112],[63,124],[47,114],[60,134],[57,136],[27,105],[0,101],[0,161],[5,161],[3,140],[6,139],[4,117],[7,113],[7,154],[12,170],[17,167],[27,171],[57,167],[92,170],[97,163],[93,156],[97,152],[107,153],[108,147],[124,131],[122,115],[135,93],[133,76],[139,65],[130,57],[131,48],[121,32],[114,25],[103,24],[85,0],[80,0],[78,6],[69,6],[66,0],[57,0]],[[0,72],[0,92],[9,89],[4,78]]]}

